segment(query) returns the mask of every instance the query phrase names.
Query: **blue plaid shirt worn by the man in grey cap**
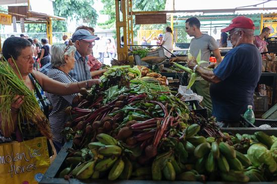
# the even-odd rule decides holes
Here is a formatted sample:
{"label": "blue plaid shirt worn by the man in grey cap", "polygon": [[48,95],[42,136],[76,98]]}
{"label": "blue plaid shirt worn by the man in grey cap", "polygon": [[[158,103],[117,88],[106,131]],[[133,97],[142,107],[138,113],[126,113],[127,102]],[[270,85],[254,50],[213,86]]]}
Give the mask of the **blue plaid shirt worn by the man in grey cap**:
{"label": "blue plaid shirt worn by the man in grey cap", "polygon": [[[88,66],[88,59],[89,57],[84,57],[81,56],[81,54],[76,50],[75,52],[75,66],[70,73],[68,73],[73,79],[76,79],[77,81],[86,81],[91,79],[91,74],[90,74],[90,68]],[[48,71],[52,69],[51,63],[46,64],[43,66],[39,71],[45,75],[47,75]]]}

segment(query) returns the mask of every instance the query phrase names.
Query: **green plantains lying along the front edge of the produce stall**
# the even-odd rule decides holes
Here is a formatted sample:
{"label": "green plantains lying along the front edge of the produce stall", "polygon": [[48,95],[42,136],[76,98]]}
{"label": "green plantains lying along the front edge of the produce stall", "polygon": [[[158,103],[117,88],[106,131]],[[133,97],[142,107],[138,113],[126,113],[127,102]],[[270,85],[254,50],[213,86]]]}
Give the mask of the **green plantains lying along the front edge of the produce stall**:
{"label": "green plantains lying along the front edge of the produce stall", "polygon": [[[140,157],[123,142],[107,134],[98,134],[98,142],[91,142],[87,148],[72,152],[66,158],[69,166],[59,173],[59,177],[202,182],[268,180],[265,167],[253,166],[251,158],[241,151],[247,153],[249,146],[257,143],[272,148],[271,137],[256,132],[254,135],[230,136],[224,133],[225,137],[205,138],[197,135],[199,130],[197,124],[188,126],[179,139],[170,139],[173,147],[160,147],[159,154],[145,164],[139,164]],[[237,149],[238,145],[243,149]]]}

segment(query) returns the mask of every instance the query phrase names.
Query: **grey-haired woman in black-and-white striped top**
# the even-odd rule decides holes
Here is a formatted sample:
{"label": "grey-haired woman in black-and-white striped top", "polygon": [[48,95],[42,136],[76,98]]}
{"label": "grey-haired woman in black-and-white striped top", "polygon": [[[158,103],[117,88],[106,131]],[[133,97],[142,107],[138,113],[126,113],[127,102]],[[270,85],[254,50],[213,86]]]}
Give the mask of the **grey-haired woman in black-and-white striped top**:
{"label": "grey-haired woman in black-and-white striped top", "polygon": [[[62,82],[73,83],[77,82],[68,73],[74,68],[75,64],[75,46],[56,44],[51,47],[51,64],[53,68],[49,70],[47,76]],[[99,84],[99,79],[95,79],[94,84]],[[78,94],[71,95],[54,95],[46,93],[47,98],[51,102],[53,109],[49,114],[50,128],[53,135],[53,144],[58,153],[64,144],[64,137],[61,131],[64,129],[64,124],[70,120],[70,117],[65,114],[65,108],[79,103]]]}

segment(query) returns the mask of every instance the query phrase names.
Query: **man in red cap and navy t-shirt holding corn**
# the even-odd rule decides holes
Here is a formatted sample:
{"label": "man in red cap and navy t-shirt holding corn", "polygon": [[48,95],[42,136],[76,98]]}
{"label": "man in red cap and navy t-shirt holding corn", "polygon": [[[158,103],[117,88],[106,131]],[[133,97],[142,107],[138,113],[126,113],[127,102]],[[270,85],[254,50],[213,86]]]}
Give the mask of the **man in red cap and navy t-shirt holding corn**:
{"label": "man in red cap and navy t-shirt holding corn", "polygon": [[261,55],[253,44],[254,29],[251,19],[236,17],[227,28],[221,30],[229,32],[228,39],[234,48],[217,68],[211,71],[198,66],[195,60],[188,62],[190,69],[212,82],[213,115],[220,127],[239,126],[240,114],[246,111],[247,105],[253,106],[253,93],[262,68]]}

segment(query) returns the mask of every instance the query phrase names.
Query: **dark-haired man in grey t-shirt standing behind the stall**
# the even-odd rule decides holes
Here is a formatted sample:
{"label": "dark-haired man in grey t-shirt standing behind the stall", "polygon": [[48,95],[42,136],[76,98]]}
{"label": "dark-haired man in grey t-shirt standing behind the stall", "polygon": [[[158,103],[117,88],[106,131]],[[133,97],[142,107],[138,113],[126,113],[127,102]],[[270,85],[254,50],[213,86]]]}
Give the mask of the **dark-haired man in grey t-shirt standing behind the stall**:
{"label": "dark-haired man in grey t-shirt standing behind the stall", "polygon": [[[200,31],[200,21],[195,18],[191,17],[186,20],[186,32],[189,36],[193,36],[194,38],[191,39],[189,52],[195,58],[197,57],[199,50],[201,50],[201,60],[205,60],[209,62],[211,51],[213,51],[217,62],[220,63],[222,60],[219,47],[215,38],[208,34],[203,34]],[[187,60],[187,57],[174,57],[171,59],[171,62],[175,62],[178,60]],[[201,67],[208,67],[209,63],[201,64]],[[195,83],[192,85],[191,90],[198,95],[203,96],[203,100],[201,105],[208,109],[209,114],[211,114],[213,106],[212,100],[210,96],[210,84],[209,82],[205,81],[203,78],[198,77]]]}

